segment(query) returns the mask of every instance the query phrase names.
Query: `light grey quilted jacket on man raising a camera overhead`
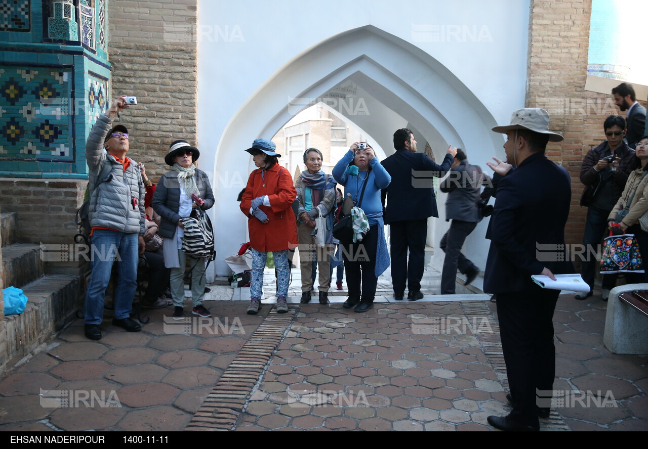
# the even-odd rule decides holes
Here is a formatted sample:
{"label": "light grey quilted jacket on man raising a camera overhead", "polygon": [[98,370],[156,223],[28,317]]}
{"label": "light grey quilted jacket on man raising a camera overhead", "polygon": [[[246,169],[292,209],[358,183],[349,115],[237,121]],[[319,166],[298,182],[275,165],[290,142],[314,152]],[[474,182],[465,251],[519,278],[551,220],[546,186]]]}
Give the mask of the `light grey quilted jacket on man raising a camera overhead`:
{"label": "light grey quilted jacket on man raising a camera overhead", "polygon": [[[144,235],[146,190],[142,176],[134,160],[130,159],[130,165],[124,171],[124,166],[106,153],[104,138],[112,126],[112,118],[106,114],[100,115],[86,142],[88,177],[90,185],[96,186],[90,196],[90,226]],[[107,163],[111,164],[112,178],[97,184],[101,169]],[[139,202],[136,208],[133,208],[133,198]]]}

